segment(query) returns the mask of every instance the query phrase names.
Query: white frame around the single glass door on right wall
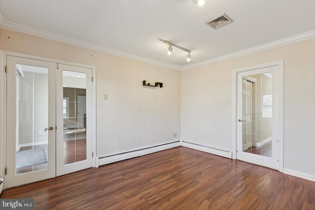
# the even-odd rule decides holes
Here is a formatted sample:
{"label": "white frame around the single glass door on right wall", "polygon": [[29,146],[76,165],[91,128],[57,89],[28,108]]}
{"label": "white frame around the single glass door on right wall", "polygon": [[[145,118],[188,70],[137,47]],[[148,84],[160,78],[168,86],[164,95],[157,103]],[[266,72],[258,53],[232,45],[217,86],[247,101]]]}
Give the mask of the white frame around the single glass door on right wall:
{"label": "white frame around the single glass door on right wall", "polygon": [[284,60],[263,63],[259,65],[233,69],[232,74],[232,159],[236,159],[237,150],[237,74],[240,72],[277,66],[279,68],[279,171],[284,171],[284,117],[283,117],[283,89],[284,89]]}

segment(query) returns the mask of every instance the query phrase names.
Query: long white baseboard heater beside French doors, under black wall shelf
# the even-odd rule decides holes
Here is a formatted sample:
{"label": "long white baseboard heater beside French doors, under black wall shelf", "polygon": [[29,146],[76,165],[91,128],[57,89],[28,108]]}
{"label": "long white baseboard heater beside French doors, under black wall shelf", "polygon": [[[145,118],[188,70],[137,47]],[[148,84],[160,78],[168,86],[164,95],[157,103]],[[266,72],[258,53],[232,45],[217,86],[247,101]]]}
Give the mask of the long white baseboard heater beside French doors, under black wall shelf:
{"label": "long white baseboard heater beside French doors, under black wall shelf", "polygon": [[162,150],[180,147],[180,146],[181,146],[181,141],[176,141],[176,142],[171,142],[171,143],[162,144],[158,146],[143,148],[139,150],[132,150],[132,151],[127,151],[127,152],[123,152],[119,154],[101,156],[98,158],[96,157],[96,167],[101,166],[101,165],[106,165],[109,163],[118,162],[121,160],[130,159],[133,157],[139,157],[142,155],[151,154],[151,153],[162,151]]}

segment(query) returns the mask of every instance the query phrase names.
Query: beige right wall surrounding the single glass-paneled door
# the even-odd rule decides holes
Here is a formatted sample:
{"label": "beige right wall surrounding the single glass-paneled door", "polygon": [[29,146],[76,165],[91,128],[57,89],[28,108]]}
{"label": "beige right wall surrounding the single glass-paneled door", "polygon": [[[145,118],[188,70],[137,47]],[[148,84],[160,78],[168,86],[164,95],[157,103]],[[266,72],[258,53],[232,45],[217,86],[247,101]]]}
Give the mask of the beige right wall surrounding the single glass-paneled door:
{"label": "beige right wall surrounding the single glass-paneled door", "polygon": [[182,139],[232,150],[232,70],[277,60],[284,60],[284,169],[315,179],[315,38],[183,71]]}

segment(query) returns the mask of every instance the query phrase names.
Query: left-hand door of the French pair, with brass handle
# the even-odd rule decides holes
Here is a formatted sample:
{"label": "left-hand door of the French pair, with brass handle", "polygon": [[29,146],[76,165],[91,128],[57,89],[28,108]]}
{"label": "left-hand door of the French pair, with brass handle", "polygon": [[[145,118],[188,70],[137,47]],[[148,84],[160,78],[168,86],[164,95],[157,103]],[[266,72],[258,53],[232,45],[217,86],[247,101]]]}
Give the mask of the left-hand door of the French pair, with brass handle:
{"label": "left-hand door of the French pair, with brass handle", "polygon": [[56,63],[6,59],[9,188],[56,176]]}

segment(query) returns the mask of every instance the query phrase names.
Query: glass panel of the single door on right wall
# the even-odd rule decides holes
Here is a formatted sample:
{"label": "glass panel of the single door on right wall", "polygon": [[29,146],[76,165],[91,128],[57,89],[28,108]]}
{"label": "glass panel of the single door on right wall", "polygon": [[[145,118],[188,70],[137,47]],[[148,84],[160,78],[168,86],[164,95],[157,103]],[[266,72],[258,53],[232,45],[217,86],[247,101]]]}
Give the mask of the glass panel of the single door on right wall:
{"label": "glass panel of the single door on right wall", "polygon": [[272,73],[243,77],[243,151],[272,157]]}

